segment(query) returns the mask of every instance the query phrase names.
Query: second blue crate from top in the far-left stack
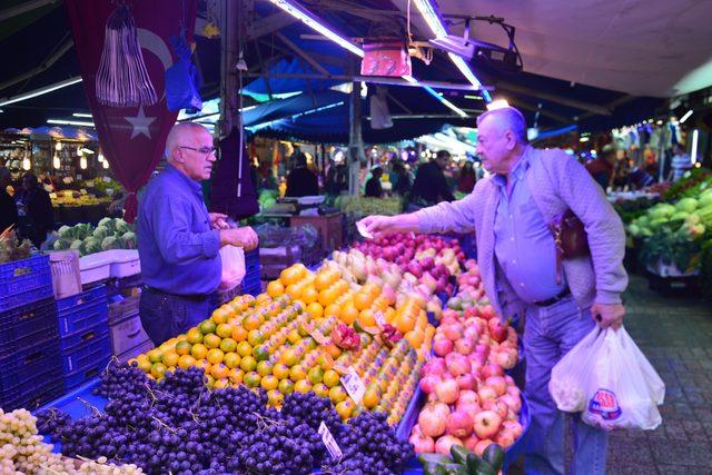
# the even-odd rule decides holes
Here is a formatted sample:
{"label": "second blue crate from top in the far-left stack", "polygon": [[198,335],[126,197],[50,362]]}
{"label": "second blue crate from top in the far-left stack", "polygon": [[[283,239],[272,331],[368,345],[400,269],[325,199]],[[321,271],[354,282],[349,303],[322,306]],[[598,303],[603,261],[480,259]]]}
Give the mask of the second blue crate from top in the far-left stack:
{"label": "second blue crate from top in the far-left stack", "polygon": [[40,339],[58,336],[53,297],[0,314],[0,358],[12,355],[16,348],[27,348]]}

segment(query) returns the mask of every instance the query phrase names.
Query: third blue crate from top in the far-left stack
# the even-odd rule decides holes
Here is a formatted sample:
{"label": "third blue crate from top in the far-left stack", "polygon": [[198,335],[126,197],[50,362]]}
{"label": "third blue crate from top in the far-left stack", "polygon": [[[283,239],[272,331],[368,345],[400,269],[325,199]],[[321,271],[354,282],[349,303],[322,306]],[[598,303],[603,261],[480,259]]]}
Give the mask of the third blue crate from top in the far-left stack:
{"label": "third blue crate from top in the far-left stack", "polygon": [[16,348],[13,354],[0,359],[0,394],[12,398],[28,386],[37,375],[59,372],[61,376],[59,342],[56,336],[36,342],[32,346]]}

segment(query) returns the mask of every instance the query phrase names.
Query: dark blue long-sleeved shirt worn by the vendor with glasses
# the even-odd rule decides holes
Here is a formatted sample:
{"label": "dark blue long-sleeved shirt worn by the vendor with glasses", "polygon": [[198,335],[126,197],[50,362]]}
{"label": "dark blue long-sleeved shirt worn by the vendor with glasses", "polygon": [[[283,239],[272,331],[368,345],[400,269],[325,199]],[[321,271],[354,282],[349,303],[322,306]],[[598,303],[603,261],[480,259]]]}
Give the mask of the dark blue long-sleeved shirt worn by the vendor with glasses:
{"label": "dark blue long-sleeved shirt worn by the vendor with glasses", "polygon": [[202,189],[171,165],[148,185],[137,220],[146,285],[178,295],[207,295],[220,284],[220,235],[210,229]]}

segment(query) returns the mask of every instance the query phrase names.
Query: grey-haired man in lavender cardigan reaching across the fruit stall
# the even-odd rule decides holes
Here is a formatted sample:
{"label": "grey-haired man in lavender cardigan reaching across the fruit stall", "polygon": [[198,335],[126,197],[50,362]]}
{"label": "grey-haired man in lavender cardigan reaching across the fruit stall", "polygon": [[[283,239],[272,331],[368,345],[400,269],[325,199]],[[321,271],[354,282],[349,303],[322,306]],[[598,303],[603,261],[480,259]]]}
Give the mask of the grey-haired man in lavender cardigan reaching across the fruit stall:
{"label": "grey-haired man in lavender cardigan reaching across the fruit stall", "polygon": [[[524,392],[532,413],[526,471],[563,474],[564,414],[548,393],[551,372],[594,325],[621,325],[625,234],[582,165],[561,150],[527,144],[518,110],[485,112],[477,127],[477,154],[491,175],[472,194],[407,215],[370,216],[363,225],[370,232],[476,234],[486,295],[524,331]],[[562,260],[551,226],[568,210],[583,222],[590,255]],[[578,416],[574,433],[573,472],[604,473],[607,434]]]}

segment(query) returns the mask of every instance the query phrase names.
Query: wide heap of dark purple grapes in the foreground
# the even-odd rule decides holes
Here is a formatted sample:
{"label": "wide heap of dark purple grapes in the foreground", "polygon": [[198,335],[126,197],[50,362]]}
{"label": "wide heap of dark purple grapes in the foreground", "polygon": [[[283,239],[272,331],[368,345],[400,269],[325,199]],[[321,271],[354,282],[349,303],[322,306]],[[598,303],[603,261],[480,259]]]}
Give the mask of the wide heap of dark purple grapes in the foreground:
{"label": "wide heap of dark purple grapes in the foreground", "polygon": [[[209,390],[199,368],[177,369],[159,382],[135,367],[112,366],[100,387],[103,415],[69,422],[55,415],[50,429],[69,456],[135,463],[148,474],[399,473],[413,454],[384,414],[364,412],[342,424],[330,402],[289,394],[281,410],[264,390]],[[49,419],[49,415],[43,415]],[[324,424],[343,451],[327,453]]]}

